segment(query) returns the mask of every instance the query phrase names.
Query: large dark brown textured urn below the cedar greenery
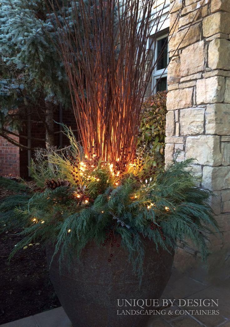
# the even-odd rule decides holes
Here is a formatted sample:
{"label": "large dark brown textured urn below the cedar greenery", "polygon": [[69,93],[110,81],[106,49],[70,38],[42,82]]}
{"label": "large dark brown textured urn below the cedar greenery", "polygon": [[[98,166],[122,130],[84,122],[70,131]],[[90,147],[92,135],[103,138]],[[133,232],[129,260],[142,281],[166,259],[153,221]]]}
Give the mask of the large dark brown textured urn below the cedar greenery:
{"label": "large dark brown textured urn below the cedar greenery", "polygon": [[[53,248],[47,246],[50,263]],[[138,277],[128,262],[128,253],[116,244],[98,248],[94,243],[83,250],[80,261],[74,260],[70,269],[65,263],[59,272],[58,255],[50,267],[50,278],[73,327],[145,327],[151,316],[117,315],[122,310],[139,307],[118,306],[117,299],[159,299],[171,274],[172,254],[151,241],[146,242],[144,274],[139,288]],[[108,262],[111,259],[111,262]],[[154,309],[147,307],[147,309]]]}

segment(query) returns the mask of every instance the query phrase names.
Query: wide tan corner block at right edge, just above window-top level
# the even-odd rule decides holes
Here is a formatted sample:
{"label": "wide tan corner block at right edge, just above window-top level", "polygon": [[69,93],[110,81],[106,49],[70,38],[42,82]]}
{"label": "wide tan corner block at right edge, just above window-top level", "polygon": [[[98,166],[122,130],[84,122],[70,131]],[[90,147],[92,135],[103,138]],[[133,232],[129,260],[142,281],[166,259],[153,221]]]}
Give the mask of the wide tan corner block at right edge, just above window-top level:
{"label": "wide tan corner block at right edge, just above window-top level", "polygon": [[208,37],[216,33],[230,33],[228,12],[215,12],[203,19],[203,36]]}

